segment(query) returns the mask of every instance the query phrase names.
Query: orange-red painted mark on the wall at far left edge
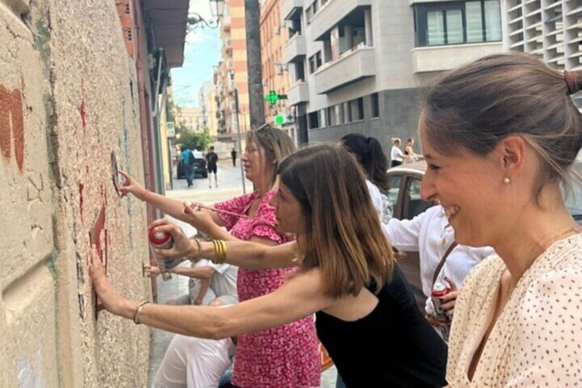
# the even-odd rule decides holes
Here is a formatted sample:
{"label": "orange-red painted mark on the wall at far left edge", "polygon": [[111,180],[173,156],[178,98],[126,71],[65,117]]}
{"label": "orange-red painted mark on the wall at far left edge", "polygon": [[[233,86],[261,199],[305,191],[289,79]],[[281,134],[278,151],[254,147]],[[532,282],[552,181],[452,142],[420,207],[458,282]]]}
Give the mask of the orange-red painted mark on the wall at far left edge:
{"label": "orange-red painted mark on the wall at far left edge", "polygon": [[10,161],[12,156],[12,139],[16,164],[22,172],[24,166],[22,93],[17,89],[9,93],[0,85],[0,151],[5,161]]}

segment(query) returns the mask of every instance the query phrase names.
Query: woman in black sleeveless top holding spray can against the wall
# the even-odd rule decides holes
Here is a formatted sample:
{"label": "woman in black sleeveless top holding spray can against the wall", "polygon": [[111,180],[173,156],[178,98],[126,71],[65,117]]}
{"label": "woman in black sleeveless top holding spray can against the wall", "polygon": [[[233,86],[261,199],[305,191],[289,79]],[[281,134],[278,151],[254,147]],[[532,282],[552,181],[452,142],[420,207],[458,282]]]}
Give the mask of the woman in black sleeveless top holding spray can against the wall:
{"label": "woman in black sleeveless top holding spray can against the wall", "polygon": [[343,148],[317,146],[290,155],[278,172],[272,205],[279,230],[295,234],[296,242],[199,242],[167,220],[152,227],[174,238],[172,249],[157,251],[164,257],[226,260],[253,269],[299,266],[281,288],[228,308],[139,304],[115,291],[93,254],[89,273],[105,308],[137,323],[217,339],[316,313],[318,336],[347,386],[445,385],[445,344],[393,260],[358,162]]}

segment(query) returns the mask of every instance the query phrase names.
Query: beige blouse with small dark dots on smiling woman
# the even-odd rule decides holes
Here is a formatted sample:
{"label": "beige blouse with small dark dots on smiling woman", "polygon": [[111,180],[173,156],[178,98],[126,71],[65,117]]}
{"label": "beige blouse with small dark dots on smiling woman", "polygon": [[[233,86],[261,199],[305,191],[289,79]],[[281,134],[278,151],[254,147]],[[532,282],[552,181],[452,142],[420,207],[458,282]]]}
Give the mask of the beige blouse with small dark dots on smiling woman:
{"label": "beige blouse with small dark dots on smiling woman", "polygon": [[524,273],[469,381],[505,269],[493,256],[463,283],[449,341],[450,387],[582,387],[581,234],[552,244]]}

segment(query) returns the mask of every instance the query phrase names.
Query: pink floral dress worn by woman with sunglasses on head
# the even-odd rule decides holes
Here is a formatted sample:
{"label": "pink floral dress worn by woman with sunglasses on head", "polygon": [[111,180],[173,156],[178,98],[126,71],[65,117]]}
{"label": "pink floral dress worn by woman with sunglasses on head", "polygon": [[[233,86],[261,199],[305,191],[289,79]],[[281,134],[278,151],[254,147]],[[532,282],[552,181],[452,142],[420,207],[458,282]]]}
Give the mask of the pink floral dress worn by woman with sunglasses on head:
{"label": "pink floral dress worn by woman with sunglasses on head", "polygon": [[[253,236],[268,238],[279,244],[289,239],[275,229],[275,207],[269,204],[277,190],[271,190],[261,198],[254,218],[220,214],[233,236],[250,240]],[[217,209],[238,214],[248,214],[257,192],[230,201],[217,203]],[[240,301],[246,301],[277,290],[294,269],[239,269],[237,292]],[[232,383],[241,388],[298,388],[318,387],[321,363],[313,317],[279,326],[264,332],[238,336]]]}

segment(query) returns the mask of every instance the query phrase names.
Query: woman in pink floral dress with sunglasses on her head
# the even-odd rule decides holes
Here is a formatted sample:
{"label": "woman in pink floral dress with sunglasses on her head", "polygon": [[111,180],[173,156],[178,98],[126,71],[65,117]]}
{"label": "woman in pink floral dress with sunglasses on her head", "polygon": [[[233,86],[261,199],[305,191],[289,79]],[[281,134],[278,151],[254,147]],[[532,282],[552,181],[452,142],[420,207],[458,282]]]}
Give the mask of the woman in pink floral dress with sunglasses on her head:
{"label": "woman in pink floral dress with sunglasses on her head", "polygon": [[[237,218],[220,212],[197,212],[189,222],[199,230],[223,240],[245,240],[268,245],[288,242],[275,225],[275,208],[269,200],[277,163],[293,152],[292,140],[277,128],[265,126],[249,133],[242,163],[246,178],[255,184],[251,194],[214,205],[216,209],[246,214]],[[222,227],[226,227],[225,231]],[[261,297],[277,290],[295,269],[239,269],[237,291],[240,301]],[[241,388],[318,387],[321,362],[312,317],[238,337],[232,383]]]}

